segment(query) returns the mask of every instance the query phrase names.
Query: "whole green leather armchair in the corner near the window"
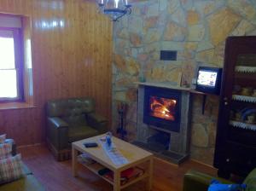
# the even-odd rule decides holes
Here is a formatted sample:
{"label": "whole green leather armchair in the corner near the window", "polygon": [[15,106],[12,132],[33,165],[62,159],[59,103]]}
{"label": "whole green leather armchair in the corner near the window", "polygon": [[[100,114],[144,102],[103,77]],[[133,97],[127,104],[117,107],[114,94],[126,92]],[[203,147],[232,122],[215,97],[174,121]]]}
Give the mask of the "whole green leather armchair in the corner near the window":
{"label": "whole green leather armchair in the corner near the window", "polygon": [[95,112],[92,98],[48,101],[46,140],[55,159],[70,159],[71,143],[108,130],[107,120]]}

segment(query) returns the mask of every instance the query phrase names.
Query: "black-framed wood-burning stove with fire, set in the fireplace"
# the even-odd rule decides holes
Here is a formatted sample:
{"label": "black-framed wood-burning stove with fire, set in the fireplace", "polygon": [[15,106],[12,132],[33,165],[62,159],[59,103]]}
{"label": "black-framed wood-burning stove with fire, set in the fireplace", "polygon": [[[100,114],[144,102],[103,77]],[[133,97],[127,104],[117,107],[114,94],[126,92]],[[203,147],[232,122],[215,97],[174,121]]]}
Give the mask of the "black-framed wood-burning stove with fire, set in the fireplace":
{"label": "black-framed wood-burning stove with fire, set in the fireplace", "polygon": [[180,91],[145,87],[143,122],[163,130],[179,132],[180,100]]}

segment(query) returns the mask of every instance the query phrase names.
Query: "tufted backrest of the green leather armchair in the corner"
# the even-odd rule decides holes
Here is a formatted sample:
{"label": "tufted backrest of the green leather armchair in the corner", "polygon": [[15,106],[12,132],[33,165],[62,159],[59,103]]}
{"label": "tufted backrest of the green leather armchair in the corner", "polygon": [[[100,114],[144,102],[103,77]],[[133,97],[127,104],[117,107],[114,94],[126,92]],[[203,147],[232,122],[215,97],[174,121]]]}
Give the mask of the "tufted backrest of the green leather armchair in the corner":
{"label": "tufted backrest of the green leather armchair in the corner", "polygon": [[46,107],[48,117],[67,118],[94,112],[95,101],[86,97],[52,100],[47,102]]}

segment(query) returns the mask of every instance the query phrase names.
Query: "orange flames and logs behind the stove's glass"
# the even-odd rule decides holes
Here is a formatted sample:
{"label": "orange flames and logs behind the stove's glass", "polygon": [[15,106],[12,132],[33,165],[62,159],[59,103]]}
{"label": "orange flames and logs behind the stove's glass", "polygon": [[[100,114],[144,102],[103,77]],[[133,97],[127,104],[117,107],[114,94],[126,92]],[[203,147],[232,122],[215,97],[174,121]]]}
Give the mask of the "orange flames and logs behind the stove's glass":
{"label": "orange flames and logs behind the stove's glass", "polygon": [[160,119],[175,121],[177,101],[150,96],[150,115]]}

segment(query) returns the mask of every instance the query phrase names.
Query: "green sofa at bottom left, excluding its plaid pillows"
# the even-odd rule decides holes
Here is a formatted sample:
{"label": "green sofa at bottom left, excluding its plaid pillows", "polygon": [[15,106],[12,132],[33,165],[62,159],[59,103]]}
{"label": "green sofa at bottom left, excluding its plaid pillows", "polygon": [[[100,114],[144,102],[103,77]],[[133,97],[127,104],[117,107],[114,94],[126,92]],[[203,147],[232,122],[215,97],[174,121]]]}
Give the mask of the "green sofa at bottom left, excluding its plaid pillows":
{"label": "green sofa at bottom left, excluding its plaid pillows", "polygon": [[[12,147],[12,155],[16,154],[16,145],[13,139],[6,139],[5,142],[11,142]],[[0,185],[0,191],[44,191],[43,185],[38,182],[37,178],[33,176],[32,171],[30,171],[27,166],[22,163],[22,171],[23,177],[14,182],[4,183]]]}

